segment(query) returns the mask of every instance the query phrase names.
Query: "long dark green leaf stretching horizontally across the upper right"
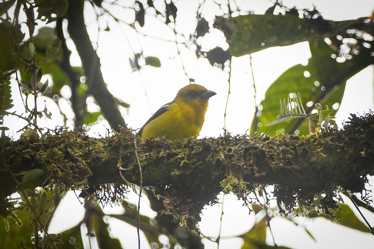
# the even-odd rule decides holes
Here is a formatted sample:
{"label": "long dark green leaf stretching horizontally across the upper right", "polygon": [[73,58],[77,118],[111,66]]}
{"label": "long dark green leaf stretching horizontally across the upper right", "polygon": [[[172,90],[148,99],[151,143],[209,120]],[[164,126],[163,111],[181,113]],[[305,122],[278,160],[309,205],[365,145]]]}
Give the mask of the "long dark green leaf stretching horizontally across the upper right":
{"label": "long dark green leaf stretching horizontally across the upper right", "polygon": [[[270,9],[269,9],[270,10]],[[334,37],[346,29],[369,30],[373,24],[365,24],[367,18],[334,22],[323,19],[319,13],[309,11],[316,18],[299,18],[297,10],[285,15],[240,15],[233,18],[217,17],[214,27],[220,28],[230,44],[233,56],[242,56],[268,47],[286,46],[301,41]]]}

